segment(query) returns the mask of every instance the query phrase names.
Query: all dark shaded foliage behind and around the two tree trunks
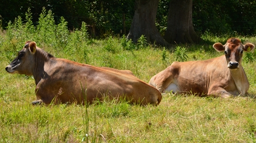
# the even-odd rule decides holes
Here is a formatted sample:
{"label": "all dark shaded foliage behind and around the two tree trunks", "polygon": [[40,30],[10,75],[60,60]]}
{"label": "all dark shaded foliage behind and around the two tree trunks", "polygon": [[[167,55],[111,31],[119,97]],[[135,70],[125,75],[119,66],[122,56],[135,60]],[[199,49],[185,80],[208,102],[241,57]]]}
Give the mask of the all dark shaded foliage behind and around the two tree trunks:
{"label": "all dark shaded foliage behind and around the two tree trunks", "polygon": [[[157,2],[155,30],[158,31],[160,36],[167,34],[167,15],[169,7],[174,2],[175,0],[171,1],[171,3],[170,0]],[[68,28],[71,31],[75,28],[80,28],[81,22],[85,21],[92,33],[96,34],[97,37],[104,37],[108,34],[128,34],[134,18],[135,0],[0,1],[0,24],[2,28],[5,29],[7,23],[14,21],[18,16],[24,19],[29,7],[31,8],[32,20],[35,25],[42,8],[46,7],[46,10],[52,10],[55,15],[55,21],[60,21],[61,16],[63,16],[68,21]],[[193,30],[199,36],[204,32],[214,34],[229,34],[233,32],[242,35],[256,34],[255,8],[256,1],[250,0],[193,0]],[[166,36],[164,36],[165,39],[167,39]]]}

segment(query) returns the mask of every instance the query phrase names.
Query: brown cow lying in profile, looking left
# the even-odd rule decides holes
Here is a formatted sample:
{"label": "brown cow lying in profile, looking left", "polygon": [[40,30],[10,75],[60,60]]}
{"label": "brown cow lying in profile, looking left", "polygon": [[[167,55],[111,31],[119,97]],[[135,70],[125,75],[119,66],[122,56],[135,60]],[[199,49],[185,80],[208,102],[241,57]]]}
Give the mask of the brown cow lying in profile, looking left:
{"label": "brown cow lying in profile, looking left", "polygon": [[37,100],[33,104],[85,104],[107,96],[140,105],[158,105],[162,99],[156,88],[139,80],[131,71],[55,58],[30,41],[6,71],[34,76]]}

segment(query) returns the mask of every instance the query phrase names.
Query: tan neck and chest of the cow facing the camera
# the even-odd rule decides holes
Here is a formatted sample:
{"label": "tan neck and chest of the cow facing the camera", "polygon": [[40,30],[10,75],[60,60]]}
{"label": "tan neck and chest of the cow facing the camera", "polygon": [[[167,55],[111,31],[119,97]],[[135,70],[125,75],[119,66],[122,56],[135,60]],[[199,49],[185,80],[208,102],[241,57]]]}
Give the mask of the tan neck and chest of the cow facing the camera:
{"label": "tan neck and chest of the cow facing the camera", "polygon": [[237,90],[240,94],[245,94],[246,92],[246,84],[247,84],[247,77],[243,67],[240,66],[237,70],[230,70],[234,83],[236,84]]}

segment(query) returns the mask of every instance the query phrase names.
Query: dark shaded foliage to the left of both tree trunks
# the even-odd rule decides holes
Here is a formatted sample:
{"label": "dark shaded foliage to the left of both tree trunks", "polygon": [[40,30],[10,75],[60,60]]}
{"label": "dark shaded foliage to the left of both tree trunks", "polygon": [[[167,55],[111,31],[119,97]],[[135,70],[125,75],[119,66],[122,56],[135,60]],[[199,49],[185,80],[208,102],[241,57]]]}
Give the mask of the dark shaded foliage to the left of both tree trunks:
{"label": "dark shaded foliage to the left of both tree trunks", "polygon": [[[2,16],[2,28],[7,27],[9,21],[21,16],[25,19],[28,8],[31,9],[32,21],[36,25],[43,7],[51,10],[55,21],[60,21],[61,16],[68,21],[68,28],[80,28],[82,21],[95,28],[98,37],[108,33],[123,32],[123,17],[126,19],[126,31],[129,31],[134,14],[134,0],[10,0],[0,1],[0,15]],[[0,23],[1,24],[1,23]]]}

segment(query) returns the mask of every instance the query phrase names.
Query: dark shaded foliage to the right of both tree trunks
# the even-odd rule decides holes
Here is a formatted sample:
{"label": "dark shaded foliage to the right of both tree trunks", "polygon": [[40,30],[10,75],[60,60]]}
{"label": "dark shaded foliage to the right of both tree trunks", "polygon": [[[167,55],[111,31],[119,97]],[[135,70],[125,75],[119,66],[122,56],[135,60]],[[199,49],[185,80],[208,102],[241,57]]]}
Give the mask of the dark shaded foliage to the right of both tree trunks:
{"label": "dark shaded foliage to the right of both tree trunks", "polygon": [[256,1],[193,1],[193,24],[196,31],[212,33],[256,33]]}

